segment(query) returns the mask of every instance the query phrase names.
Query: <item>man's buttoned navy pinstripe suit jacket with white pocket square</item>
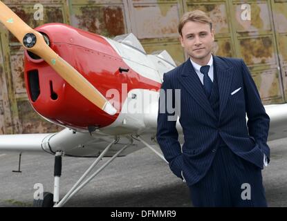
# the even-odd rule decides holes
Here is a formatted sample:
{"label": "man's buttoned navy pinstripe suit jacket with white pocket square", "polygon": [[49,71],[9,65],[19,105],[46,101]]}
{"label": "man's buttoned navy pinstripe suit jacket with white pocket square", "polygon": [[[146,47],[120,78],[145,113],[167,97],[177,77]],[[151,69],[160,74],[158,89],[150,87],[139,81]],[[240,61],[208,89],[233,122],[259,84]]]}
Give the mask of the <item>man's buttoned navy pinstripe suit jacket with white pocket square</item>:
{"label": "man's buttoned navy pinstripe suit jacket with white pocket square", "polygon": [[[266,143],[270,118],[248,67],[243,59],[214,55],[213,58],[219,86],[219,117],[214,114],[189,59],[163,76],[163,91],[180,89],[178,117],[185,142],[181,147],[176,121],[167,120],[172,114],[167,111],[160,113],[160,108],[166,109],[165,103],[170,102],[165,102],[165,99],[169,99],[163,97],[165,93],[160,93],[156,138],[172,172],[182,178],[183,171],[188,185],[198,182],[207,173],[219,147],[219,140],[223,140],[239,157],[261,169],[263,153],[268,162],[270,159],[270,148]],[[179,102],[172,97],[173,104]]]}

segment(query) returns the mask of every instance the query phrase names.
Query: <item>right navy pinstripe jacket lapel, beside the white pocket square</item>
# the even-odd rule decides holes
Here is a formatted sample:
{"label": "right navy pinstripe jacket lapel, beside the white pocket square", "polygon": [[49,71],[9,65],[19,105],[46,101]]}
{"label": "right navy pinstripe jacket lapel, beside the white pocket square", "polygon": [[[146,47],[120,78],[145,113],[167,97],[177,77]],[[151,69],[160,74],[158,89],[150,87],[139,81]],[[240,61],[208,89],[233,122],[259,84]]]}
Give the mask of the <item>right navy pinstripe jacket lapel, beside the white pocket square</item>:
{"label": "right navy pinstripe jacket lapel, beside the white pocket square", "polygon": [[221,114],[228,102],[230,96],[230,86],[232,82],[232,67],[228,66],[219,57],[213,56],[214,70],[216,71],[217,80],[219,84],[219,121]]}

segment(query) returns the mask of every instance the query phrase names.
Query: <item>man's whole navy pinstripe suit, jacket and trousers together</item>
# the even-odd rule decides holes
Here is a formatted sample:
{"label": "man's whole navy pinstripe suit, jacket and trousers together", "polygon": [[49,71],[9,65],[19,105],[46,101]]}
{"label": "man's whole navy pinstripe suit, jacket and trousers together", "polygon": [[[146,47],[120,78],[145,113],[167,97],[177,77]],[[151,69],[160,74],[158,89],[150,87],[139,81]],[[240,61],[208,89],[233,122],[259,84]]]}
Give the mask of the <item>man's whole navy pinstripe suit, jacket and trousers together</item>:
{"label": "man's whole navy pinstripe suit, jacket and trousers together", "polygon": [[[206,194],[210,194],[210,189],[214,191],[214,185],[223,187],[223,184],[227,184],[234,187],[247,180],[252,185],[259,183],[261,189],[258,185],[255,189],[260,189],[258,193],[260,196],[252,195],[258,198],[259,202],[255,202],[258,201],[255,199],[250,204],[242,205],[264,206],[266,202],[261,204],[262,200],[265,200],[265,195],[260,179],[263,153],[267,156],[268,162],[270,158],[270,149],[266,143],[270,119],[243,60],[214,55],[213,60],[216,76],[216,84],[214,84],[216,86],[212,88],[213,97],[205,95],[201,81],[189,59],[174,70],[165,73],[162,89],[165,91],[180,89],[179,122],[183,127],[185,142],[181,148],[176,121],[167,120],[167,117],[172,114],[159,111],[156,135],[158,144],[172,172],[182,178],[181,171],[183,171],[187,185],[196,190],[198,198],[210,200]],[[161,93],[159,107],[167,108],[163,96]],[[178,100],[172,100],[172,102],[175,103]],[[229,171],[226,171],[227,166],[230,168]],[[250,172],[250,169],[253,171]],[[246,174],[248,170],[249,173],[246,176],[249,178],[243,177],[241,174]],[[219,173],[223,171],[228,177],[222,180],[219,179]],[[235,177],[242,177],[242,179],[232,179],[237,181],[228,183],[231,173],[235,173]],[[233,182],[235,182],[234,185],[232,185]],[[201,189],[203,186],[205,187]],[[201,191],[206,194],[200,193]],[[234,190],[230,187],[229,191]],[[192,195],[195,196],[196,193]],[[214,206],[217,205],[216,202],[219,202],[219,206],[241,205],[232,200],[226,204],[232,196],[224,198],[223,195],[222,193],[215,196],[213,202],[207,202],[208,200],[197,202],[196,198],[192,198],[192,201],[198,206]]]}

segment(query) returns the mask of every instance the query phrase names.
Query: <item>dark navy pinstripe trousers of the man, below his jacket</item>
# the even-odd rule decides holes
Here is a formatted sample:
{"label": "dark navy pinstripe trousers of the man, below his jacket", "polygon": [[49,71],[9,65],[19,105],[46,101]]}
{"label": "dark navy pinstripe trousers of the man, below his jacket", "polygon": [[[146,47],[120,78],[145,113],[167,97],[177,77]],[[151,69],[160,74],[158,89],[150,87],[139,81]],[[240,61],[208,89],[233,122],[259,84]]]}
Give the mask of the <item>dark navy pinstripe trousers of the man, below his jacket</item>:
{"label": "dark navy pinstripe trousers of the man, below his jacket", "polygon": [[189,186],[194,206],[267,206],[261,169],[219,146],[206,175]]}

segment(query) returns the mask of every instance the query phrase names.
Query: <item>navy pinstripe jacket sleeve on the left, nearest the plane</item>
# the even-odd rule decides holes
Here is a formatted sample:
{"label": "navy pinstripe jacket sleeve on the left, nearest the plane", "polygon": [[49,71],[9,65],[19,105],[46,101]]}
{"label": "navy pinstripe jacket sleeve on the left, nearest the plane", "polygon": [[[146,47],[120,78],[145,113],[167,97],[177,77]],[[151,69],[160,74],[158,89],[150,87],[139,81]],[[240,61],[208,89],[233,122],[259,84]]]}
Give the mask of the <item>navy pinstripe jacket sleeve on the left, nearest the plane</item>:
{"label": "navy pinstripe jacket sleeve on the left, nearest the plane", "polygon": [[[167,90],[172,90],[172,95],[169,96]],[[163,84],[160,90],[160,99],[158,102],[158,127],[156,133],[156,140],[163,151],[163,155],[167,162],[169,162],[169,168],[172,172],[181,177],[181,170],[183,165],[183,155],[181,152],[180,143],[178,142],[178,131],[176,130],[176,113],[168,113],[167,106],[173,104],[174,106],[174,90],[167,78],[166,74],[163,75]],[[170,119],[169,117],[172,117]]]}

